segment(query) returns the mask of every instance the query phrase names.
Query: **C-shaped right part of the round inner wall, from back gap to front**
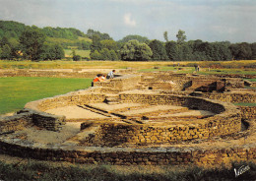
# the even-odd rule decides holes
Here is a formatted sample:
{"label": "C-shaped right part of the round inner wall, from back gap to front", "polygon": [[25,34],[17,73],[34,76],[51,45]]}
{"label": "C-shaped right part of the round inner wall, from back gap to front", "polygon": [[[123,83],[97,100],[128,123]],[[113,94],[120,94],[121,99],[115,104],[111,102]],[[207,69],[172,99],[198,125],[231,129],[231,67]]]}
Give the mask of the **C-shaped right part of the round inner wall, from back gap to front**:
{"label": "C-shaped right part of the round inner wall, from back gap to front", "polygon": [[[182,124],[101,124],[89,143],[98,146],[113,144],[173,144],[189,140],[206,140],[216,136],[237,133],[241,129],[239,110],[232,104],[216,102],[196,97],[156,94],[125,94],[119,95],[122,102],[137,102],[145,104],[182,105],[189,108],[208,110],[217,113],[216,116]],[[165,121],[165,122],[166,122]],[[177,120],[175,120],[177,121]]]}

